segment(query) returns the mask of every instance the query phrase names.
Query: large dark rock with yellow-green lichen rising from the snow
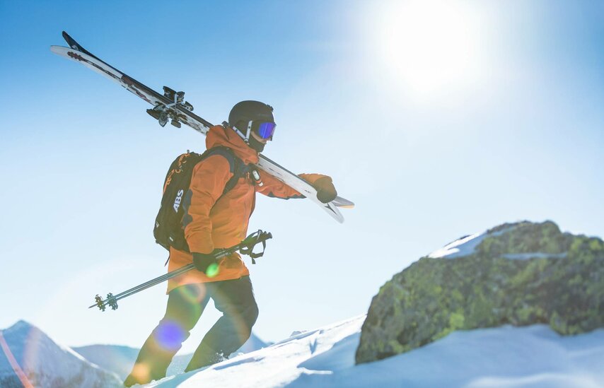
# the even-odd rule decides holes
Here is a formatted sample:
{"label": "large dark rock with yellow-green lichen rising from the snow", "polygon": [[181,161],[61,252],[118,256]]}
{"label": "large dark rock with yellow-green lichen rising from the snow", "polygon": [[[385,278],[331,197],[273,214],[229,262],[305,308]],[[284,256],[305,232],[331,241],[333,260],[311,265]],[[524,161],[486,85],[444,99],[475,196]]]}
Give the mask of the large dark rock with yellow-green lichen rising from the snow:
{"label": "large dark rock with yellow-green lichen rising from the snow", "polygon": [[382,286],[363,324],[356,363],[460,329],[545,323],[569,335],[604,327],[601,239],[561,233],[547,221],[504,224],[471,240],[470,252],[453,242],[448,252],[463,254],[422,257]]}

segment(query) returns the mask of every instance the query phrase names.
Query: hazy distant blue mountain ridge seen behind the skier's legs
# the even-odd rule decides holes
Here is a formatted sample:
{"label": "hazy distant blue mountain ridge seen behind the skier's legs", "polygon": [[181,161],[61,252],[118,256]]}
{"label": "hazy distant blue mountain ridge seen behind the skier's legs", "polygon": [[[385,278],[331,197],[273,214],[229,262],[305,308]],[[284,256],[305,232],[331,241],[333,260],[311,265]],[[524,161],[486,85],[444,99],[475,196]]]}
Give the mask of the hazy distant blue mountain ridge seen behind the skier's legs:
{"label": "hazy distant blue mountain ridge seen behind the skier's legs", "polygon": [[[266,346],[268,346],[267,343],[252,333],[250,339],[248,339],[248,341],[246,341],[243,346],[241,346],[241,348],[239,348],[238,351],[234,352],[233,354],[236,355],[237,353],[249,353],[251,351],[257,351],[258,349],[265,348]],[[139,349],[119,345],[90,345],[74,347],[73,349],[91,363],[94,363],[105,370],[114,372],[122,380],[129,375],[130,371],[132,370],[132,365],[134,365],[134,361],[137,360],[137,355],[139,355]],[[187,367],[192,356],[192,353],[177,355],[172,360],[172,363],[170,363],[167,375],[171,376],[182,373],[182,371],[184,371]]]}

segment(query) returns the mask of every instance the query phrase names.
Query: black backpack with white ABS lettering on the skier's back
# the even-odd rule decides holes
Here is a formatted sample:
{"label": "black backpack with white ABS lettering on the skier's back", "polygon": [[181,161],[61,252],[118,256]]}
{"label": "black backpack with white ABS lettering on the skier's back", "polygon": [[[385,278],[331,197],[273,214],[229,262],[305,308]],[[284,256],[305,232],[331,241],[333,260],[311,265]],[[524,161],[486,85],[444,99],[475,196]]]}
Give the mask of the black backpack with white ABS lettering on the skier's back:
{"label": "black backpack with white ABS lettering on the skier's back", "polygon": [[233,189],[239,178],[243,177],[248,171],[248,166],[243,163],[243,160],[237,158],[231,148],[223,146],[210,148],[202,154],[187,151],[172,162],[168,173],[165,175],[161,206],[153,228],[155,241],[168,249],[168,252],[170,247],[190,252],[185,239],[185,231],[182,228],[182,216],[184,216],[185,210],[180,205],[185,194],[189,191],[195,165],[211,155],[222,155],[226,158],[231,167],[231,172],[233,172],[233,177],[226,182],[222,195]]}

